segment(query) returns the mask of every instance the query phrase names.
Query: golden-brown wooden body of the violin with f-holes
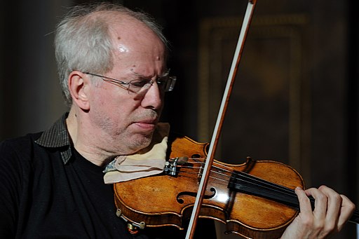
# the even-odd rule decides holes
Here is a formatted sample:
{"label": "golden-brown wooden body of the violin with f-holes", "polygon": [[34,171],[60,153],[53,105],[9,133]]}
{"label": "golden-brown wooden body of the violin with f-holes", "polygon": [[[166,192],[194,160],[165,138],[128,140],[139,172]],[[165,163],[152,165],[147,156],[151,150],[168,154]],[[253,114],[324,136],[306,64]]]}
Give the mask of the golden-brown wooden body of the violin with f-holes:
{"label": "golden-brown wooden body of the violin with f-holes", "polygon": [[[174,175],[163,173],[114,184],[118,216],[140,228],[175,226],[182,230],[191,217],[208,143],[177,135],[170,135],[168,141],[169,158],[188,158]],[[250,158],[241,165],[215,161],[211,168],[199,217],[221,221],[228,233],[246,238],[279,238],[298,210],[233,189],[229,186],[233,172],[245,172],[289,189],[303,188],[302,177],[283,163]]]}

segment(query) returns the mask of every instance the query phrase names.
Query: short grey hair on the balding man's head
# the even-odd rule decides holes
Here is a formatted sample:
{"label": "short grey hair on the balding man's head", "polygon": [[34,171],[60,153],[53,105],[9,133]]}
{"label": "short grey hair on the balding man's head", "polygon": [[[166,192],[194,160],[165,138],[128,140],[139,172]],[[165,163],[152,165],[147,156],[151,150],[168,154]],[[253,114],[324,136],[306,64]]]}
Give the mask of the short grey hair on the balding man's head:
{"label": "short grey hair on the balding man's head", "polygon": [[108,32],[107,18],[100,15],[93,17],[92,14],[99,11],[116,11],[140,20],[157,34],[168,49],[168,41],[163,36],[161,27],[146,13],[109,3],[75,6],[57,25],[55,33],[57,71],[62,94],[69,107],[72,104],[72,97],[67,86],[67,78],[72,71],[104,74],[114,66],[112,57],[114,48]]}

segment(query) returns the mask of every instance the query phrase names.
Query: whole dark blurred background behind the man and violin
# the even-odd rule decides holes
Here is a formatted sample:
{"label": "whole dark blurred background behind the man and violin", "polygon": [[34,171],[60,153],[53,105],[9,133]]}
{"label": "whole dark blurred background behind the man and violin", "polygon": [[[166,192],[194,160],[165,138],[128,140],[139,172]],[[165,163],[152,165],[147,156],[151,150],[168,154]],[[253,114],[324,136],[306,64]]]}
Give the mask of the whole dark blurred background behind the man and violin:
{"label": "whole dark blurred background behind the man and violin", "polygon": [[[4,1],[0,140],[48,128],[66,110],[53,31],[87,1]],[[171,43],[177,75],[163,121],[210,142],[247,1],[113,1],[147,11]],[[258,1],[216,157],[274,159],[306,186],[326,184],[358,204],[358,14],[354,0]],[[353,238],[348,224],[337,238]],[[231,236],[223,236],[230,238]]]}

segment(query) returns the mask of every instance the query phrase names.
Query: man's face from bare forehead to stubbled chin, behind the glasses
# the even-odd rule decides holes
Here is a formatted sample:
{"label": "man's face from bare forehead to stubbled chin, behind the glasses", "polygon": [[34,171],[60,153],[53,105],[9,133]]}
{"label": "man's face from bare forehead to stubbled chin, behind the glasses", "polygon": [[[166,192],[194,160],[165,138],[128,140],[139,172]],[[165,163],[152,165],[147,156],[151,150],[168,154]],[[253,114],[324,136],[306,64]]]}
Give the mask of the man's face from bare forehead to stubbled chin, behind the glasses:
{"label": "man's face from bare forehead to stubbled chin, behind the glasses", "polygon": [[[127,27],[110,29],[114,67],[105,76],[125,82],[163,76],[167,69],[161,40],[143,25]],[[156,82],[145,93],[130,94],[114,83],[94,78],[88,114],[100,140],[107,142],[104,150],[126,154],[147,146],[163,109],[163,95]]]}

